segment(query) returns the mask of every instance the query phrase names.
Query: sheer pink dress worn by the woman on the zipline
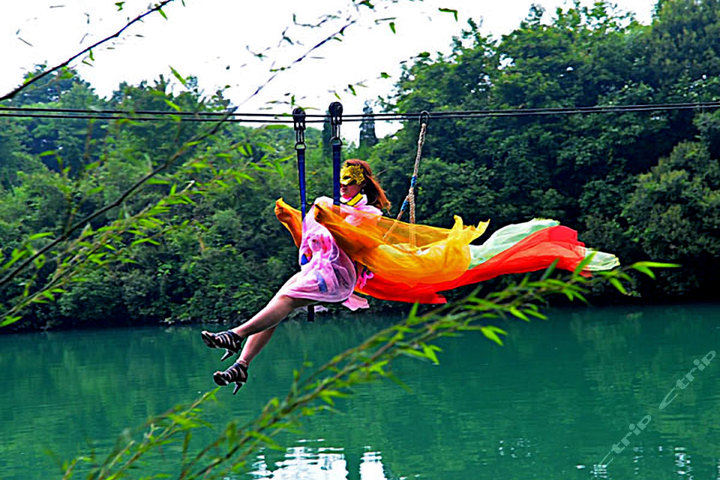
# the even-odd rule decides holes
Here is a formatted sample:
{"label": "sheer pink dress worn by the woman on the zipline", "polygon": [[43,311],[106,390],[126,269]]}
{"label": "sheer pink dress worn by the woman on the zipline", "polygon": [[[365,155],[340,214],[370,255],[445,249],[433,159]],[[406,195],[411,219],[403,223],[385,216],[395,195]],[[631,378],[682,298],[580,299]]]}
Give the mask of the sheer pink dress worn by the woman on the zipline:
{"label": "sheer pink dress worn by the woman on the zipline", "polygon": [[[350,201],[346,205],[350,203],[356,210],[381,214],[378,208],[368,205],[365,195],[359,201]],[[332,200],[320,197],[315,200],[315,204],[332,205]],[[362,287],[372,277],[372,273],[363,269],[358,275],[354,262],[338,247],[328,229],[315,220],[313,209],[303,220],[302,242],[298,252],[300,271],[285,282],[278,295],[325,303],[342,302],[351,310],[367,308],[367,300],[354,295],[353,290],[356,284]],[[352,224],[353,216],[349,215],[345,221]]]}

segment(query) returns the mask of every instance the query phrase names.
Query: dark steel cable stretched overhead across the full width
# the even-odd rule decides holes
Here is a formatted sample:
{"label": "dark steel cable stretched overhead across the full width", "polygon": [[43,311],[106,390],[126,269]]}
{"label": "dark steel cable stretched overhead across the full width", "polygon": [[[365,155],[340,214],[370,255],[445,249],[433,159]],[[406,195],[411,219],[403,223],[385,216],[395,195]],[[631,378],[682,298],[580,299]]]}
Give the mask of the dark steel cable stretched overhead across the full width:
{"label": "dark steel cable stretched overhead across the full width", "polygon": [[[548,108],[504,108],[487,110],[448,110],[429,112],[433,120],[441,119],[478,119],[492,117],[532,117],[551,115],[588,115],[603,113],[660,112],[672,110],[712,110],[720,108],[720,101],[678,102],[634,105],[596,105],[592,107],[548,107]],[[367,119],[375,121],[420,120],[424,112],[410,113],[362,113],[343,115],[344,122],[361,122]],[[219,112],[188,112],[174,110],[117,110],[117,109],[79,109],[51,107],[8,107],[0,106],[0,118],[58,118],[76,120],[132,120],[183,122],[218,122],[293,124],[291,113],[239,113],[233,110]],[[307,123],[324,123],[329,120],[327,114],[307,114]]]}

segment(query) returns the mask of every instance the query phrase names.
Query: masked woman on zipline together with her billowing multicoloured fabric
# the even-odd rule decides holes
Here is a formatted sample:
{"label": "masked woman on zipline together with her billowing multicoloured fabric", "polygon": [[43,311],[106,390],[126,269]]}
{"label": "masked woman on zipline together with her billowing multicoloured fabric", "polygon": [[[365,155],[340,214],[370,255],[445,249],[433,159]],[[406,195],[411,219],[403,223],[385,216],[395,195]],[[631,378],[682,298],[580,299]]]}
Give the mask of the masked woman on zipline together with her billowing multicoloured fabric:
{"label": "masked woman on zipline together with her billowing multicoloured fabric", "polygon": [[315,303],[366,308],[367,300],[353,292],[382,300],[445,303],[440,292],[499,275],[551,265],[574,271],[581,262],[582,274],[589,275],[619,264],[615,255],[585,248],[575,230],[555,220],[508,225],[483,244],[471,245],[488,222],[466,226],[456,216],[453,227],[445,229],[383,217],[380,209],[390,203],[367,162],[348,160],[340,178],[341,205],[321,197],[304,220],[301,212],[277,201],[275,214],[299,247],[301,270],[247,322],[221,333],[202,332],[209,347],[226,349],[223,360],[240,353],[230,368],[215,372],[218,385],[234,382],[237,392],[247,381],[250,362],[296,308]]}

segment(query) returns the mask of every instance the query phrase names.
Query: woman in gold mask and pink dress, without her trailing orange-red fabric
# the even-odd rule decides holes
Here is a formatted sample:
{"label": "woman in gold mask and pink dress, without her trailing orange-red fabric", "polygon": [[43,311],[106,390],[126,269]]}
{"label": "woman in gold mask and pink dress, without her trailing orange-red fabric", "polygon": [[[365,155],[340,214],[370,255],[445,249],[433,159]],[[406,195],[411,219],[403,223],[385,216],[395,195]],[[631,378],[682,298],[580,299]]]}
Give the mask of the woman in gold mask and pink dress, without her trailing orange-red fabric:
{"label": "woman in gold mask and pink dress, without her trailing orange-red fabric", "polygon": [[[380,218],[381,209],[390,208],[385,191],[373,176],[370,165],[363,160],[345,162],[340,195],[343,211],[347,213],[345,221],[349,224],[353,222],[352,212]],[[202,332],[208,347],[226,349],[222,360],[240,352],[230,368],[213,374],[218,385],[235,382],[237,392],[247,381],[250,362],[270,341],[277,324],[293,310],[315,303],[342,303],[352,310],[367,308],[367,300],[354,295],[353,291],[371,274],[363,268],[358,272],[355,263],[338,247],[330,232],[315,220],[315,209],[330,207],[332,203],[327,197],[317,199],[305,220],[301,221],[295,212],[284,209],[278,202],[275,210],[278,219],[293,225],[290,231],[299,247],[301,270],[247,322],[221,333]]]}

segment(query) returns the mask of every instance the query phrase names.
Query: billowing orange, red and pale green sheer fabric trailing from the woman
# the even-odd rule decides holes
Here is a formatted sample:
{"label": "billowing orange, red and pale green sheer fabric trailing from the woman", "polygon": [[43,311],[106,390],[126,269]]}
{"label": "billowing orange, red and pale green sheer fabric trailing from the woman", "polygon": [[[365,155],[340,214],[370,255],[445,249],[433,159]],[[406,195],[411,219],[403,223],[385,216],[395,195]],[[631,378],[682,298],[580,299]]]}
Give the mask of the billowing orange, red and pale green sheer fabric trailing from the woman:
{"label": "billowing orange, red and pale green sheer fabric trailing from the woman", "polygon": [[[301,229],[300,213],[280,199],[276,214],[302,251],[304,237],[310,233]],[[554,262],[557,268],[572,271],[588,256],[592,258],[584,267],[585,275],[619,265],[615,255],[586,248],[575,230],[555,220],[508,225],[483,244],[473,245],[488,222],[468,226],[456,216],[453,227],[445,229],[399,222],[377,211],[333,206],[327,201],[316,202],[306,224],[308,217],[313,217],[310,228],[322,226],[333,248],[356,270],[369,272],[360,281],[356,275],[355,292],[383,300],[445,303],[441,292],[499,275],[543,270]]]}

